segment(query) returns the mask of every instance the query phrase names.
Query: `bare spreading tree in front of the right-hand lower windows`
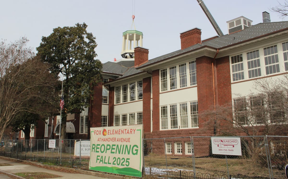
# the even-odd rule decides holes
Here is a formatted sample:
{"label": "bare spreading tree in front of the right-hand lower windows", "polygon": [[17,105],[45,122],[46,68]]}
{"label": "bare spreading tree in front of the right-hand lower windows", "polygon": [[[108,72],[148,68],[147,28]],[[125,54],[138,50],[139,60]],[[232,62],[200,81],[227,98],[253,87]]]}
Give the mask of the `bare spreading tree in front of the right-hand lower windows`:
{"label": "bare spreading tree in front of the right-hand lower windows", "polygon": [[288,75],[279,79],[255,80],[248,96],[234,98],[231,104],[216,106],[200,115],[206,118],[210,130],[218,136],[248,136],[241,144],[248,154],[257,153],[264,145],[259,135],[287,135]]}

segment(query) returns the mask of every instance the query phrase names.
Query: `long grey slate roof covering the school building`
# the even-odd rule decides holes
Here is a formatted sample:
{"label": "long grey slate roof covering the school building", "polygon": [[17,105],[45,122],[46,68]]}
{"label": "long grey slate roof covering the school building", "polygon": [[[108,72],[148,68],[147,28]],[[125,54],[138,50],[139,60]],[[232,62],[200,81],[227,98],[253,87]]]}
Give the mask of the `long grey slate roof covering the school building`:
{"label": "long grey slate roof covering the school building", "polygon": [[[256,25],[253,25],[251,27],[247,27],[244,30],[241,30],[239,32],[235,32],[232,34],[226,34],[224,36],[220,36],[205,42],[202,42],[202,44],[195,44],[193,46],[190,46],[186,49],[183,50],[177,50],[165,55],[162,55],[160,57],[156,57],[154,59],[149,60],[147,63],[139,66],[147,66],[150,64],[153,64],[157,61],[164,60],[169,57],[177,56],[182,53],[185,53],[187,51],[193,51],[195,49],[198,49],[202,46],[209,46],[212,48],[220,49],[232,44],[236,44],[238,42],[243,42],[245,40],[249,40],[255,37],[259,37],[274,31],[278,31],[281,29],[288,28],[288,21],[283,21],[283,22],[272,22],[272,23],[259,23]],[[137,68],[139,68],[137,67]],[[130,75],[134,75],[140,72],[143,72],[141,70],[137,70],[134,68],[134,61],[120,61],[118,63],[114,62],[106,62],[103,64],[103,72],[111,72],[111,73],[116,73],[116,74],[121,74],[123,76],[117,78],[124,78]]]}

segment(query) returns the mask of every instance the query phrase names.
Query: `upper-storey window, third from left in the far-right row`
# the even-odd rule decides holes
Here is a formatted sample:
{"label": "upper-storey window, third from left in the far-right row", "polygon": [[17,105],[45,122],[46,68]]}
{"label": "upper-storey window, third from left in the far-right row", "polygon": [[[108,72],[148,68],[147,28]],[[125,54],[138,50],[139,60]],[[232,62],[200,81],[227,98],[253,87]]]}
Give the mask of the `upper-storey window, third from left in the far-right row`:
{"label": "upper-storey window, third from left in the far-right row", "polygon": [[264,48],[266,74],[280,72],[277,45]]}

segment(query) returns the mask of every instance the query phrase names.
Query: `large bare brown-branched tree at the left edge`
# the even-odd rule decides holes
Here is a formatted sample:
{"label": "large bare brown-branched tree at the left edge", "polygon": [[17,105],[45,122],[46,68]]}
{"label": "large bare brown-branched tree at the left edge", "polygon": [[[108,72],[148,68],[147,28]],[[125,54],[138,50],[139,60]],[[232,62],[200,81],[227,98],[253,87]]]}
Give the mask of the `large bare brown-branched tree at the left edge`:
{"label": "large bare brown-branched tree at the left edge", "polygon": [[47,64],[34,57],[32,49],[26,48],[27,42],[22,38],[0,44],[0,140],[5,128],[23,111],[41,116],[57,112],[53,106],[58,78],[49,72]]}

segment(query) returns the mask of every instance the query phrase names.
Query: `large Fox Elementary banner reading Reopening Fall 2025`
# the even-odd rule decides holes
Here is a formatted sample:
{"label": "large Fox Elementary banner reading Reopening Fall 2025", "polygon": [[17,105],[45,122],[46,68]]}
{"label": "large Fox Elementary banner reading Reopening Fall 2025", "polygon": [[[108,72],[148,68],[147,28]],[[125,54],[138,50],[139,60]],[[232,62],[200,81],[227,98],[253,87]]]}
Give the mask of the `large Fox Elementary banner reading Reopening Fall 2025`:
{"label": "large Fox Elementary banner reading Reopening Fall 2025", "polygon": [[90,128],[89,169],[142,177],[142,125]]}

